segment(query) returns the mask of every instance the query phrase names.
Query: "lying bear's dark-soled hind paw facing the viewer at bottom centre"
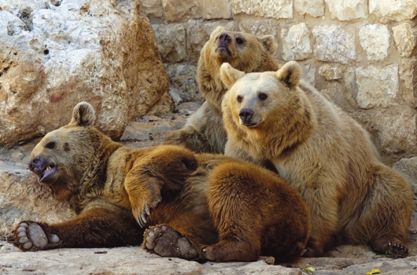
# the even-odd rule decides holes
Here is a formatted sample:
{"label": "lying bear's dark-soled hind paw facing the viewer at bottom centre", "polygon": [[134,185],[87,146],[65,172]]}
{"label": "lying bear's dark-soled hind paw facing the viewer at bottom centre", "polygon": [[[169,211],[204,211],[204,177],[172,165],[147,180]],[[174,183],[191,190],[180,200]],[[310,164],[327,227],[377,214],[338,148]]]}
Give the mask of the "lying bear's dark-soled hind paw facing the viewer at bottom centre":
{"label": "lying bear's dark-soled hind paw facing the viewer at bottom centre", "polygon": [[185,236],[168,225],[153,226],[143,234],[143,247],[162,257],[193,259],[198,251]]}

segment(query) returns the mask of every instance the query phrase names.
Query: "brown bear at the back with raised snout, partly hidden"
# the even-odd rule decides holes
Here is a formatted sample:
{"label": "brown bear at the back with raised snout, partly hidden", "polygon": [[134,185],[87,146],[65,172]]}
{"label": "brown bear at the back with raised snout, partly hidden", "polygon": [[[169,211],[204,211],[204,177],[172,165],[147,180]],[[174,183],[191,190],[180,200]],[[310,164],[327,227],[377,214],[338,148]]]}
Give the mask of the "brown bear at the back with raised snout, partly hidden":
{"label": "brown bear at the back with raised snout, partly hidden", "polygon": [[224,153],[226,130],[222,120],[222,97],[226,87],[219,69],[228,62],[244,72],[278,70],[274,53],[278,45],[271,35],[257,37],[217,27],[210,34],[198,60],[198,84],[205,98],[184,126],[167,137],[165,144],[186,146],[197,153]]}

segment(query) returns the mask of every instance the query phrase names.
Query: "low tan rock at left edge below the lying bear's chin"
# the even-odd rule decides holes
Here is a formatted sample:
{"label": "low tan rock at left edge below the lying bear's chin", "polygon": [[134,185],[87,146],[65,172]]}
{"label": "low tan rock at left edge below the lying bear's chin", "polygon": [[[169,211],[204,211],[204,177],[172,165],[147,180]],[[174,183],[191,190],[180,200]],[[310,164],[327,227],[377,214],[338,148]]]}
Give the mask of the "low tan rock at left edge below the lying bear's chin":
{"label": "low tan rock at left edge below the lying bear's chin", "polygon": [[[23,165],[0,166],[0,236],[8,236],[21,220],[63,222],[74,217],[70,206],[52,197],[48,187],[40,186]],[[53,212],[51,212],[53,209]]]}

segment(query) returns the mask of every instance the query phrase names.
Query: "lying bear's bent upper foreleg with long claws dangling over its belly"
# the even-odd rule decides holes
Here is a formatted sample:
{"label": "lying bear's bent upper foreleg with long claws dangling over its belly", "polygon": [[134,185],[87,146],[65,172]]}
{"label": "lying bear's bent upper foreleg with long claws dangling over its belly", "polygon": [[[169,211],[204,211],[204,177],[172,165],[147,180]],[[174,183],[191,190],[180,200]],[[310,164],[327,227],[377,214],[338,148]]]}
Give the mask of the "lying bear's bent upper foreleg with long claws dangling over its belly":
{"label": "lying bear's bent upper foreleg with long claws dangling over its belly", "polygon": [[138,159],[124,179],[134,218],[145,226],[161,200],[176,198],[186,179],[198,168],[195,153],[181,146],[157,146]]}

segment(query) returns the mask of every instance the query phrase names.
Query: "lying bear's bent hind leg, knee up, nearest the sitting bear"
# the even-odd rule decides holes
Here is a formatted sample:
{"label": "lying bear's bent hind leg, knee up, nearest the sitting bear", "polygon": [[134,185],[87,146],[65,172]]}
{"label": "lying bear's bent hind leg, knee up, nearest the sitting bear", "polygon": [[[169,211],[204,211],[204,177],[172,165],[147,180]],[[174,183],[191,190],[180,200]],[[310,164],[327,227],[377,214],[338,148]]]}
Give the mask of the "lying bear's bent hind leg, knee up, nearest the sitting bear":
{"label": "lying bear's bent hind leg, knee up, nearest the sitting bear", "polygon": [[[246,167],[243,167],[245,169]],[[239,164],[216,167],[209,181],[208,207],[220,241],[203,250],[215,262],[256,261],[261,252],[264,222],[255,182]]]}

